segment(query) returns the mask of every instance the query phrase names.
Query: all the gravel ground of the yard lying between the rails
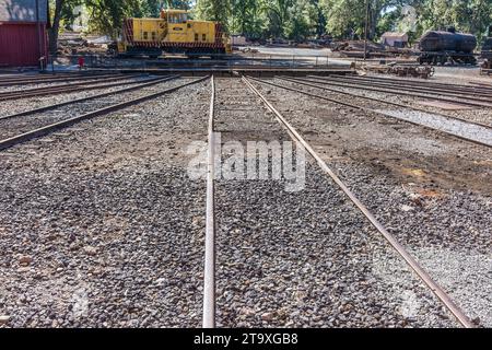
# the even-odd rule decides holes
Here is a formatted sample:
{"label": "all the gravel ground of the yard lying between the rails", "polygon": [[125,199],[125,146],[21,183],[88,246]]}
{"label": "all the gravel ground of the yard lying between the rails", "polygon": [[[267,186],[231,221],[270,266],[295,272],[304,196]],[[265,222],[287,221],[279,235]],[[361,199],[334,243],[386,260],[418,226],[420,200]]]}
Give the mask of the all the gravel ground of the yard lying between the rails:
{"label": "all the gravel ground of the yard lying between the rails", "polygon": [[[0,120],[0,139],[188,81]],[[396,113],[377,102],[269,81]],[[222,145],[291,140],[241,79],[215,83]],[[472,322],[492,327],[490,149],[253,84]],[[0,112],[121,88],[3,102]],[[189,171],[197,152],[204,154],[210,93],[207,80],[0,151],[0,328],[201,326],[206,182],[191,179]],[[479,112],[477,119],[489,122],[490,112]],[[468,118],[471,112],[446,113]],[[233,153],[222,149],[223,160]],[[286,190],[292,184],[285,179],[215,182],[218,326],[457,327],[339,187],[306,160],[297,191]]]}

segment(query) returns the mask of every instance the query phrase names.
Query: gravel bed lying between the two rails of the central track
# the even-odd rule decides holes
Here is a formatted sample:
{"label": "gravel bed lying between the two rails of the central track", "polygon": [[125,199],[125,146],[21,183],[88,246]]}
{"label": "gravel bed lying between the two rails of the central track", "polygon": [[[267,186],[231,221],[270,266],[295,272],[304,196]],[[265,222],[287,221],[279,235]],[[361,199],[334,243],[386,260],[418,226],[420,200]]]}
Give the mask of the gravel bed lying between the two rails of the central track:
{"label": "gravel bed lying between the two rails of the central track", "polygon": [[[218,82],[222,141],[289,140],[241,84]],[[220,326],[456,326],[311,162],[296,192],[284,180],[220,180],[216,213]]]}

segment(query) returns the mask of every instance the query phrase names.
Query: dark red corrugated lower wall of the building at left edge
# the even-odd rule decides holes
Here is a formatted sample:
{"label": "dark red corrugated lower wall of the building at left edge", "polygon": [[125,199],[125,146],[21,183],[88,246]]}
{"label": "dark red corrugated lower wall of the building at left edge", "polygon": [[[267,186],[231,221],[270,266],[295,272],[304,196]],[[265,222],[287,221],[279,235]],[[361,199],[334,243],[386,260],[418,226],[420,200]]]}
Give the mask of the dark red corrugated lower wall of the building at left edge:
{"label": "dark red corrugated lower wall of the building at left edge", "polygon": [[47,57],[46,24],[39,24],[39,32],[36,23],[0,22],[0,67],[39,66],[39,58]]}

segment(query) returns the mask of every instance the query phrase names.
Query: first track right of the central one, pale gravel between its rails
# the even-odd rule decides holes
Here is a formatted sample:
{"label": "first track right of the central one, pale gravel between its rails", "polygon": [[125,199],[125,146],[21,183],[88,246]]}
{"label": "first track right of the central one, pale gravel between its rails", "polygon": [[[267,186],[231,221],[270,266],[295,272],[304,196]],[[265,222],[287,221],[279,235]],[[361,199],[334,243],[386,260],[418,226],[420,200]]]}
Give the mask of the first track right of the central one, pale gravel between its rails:
{"label": "first track right of the central one, pale gravel between its rails", "polygon": [[[453,117],[453,116],[447,116],[447,115],[440,115],[440,114],[435,114],[435,113],[431,113],[431,114],[424,114],[425,112],[423,109],[417,109],[414,107],[410,107],[407,105],[402,105],[402,104],[397,104],[397,103],[393,103],[393,102],[386,102],[379,98],[374,98],[374,97],[366,97],[366,96],[362,96],[359,94],[354,94],[354,93],[349,93],[349,92],[344,92],[344,91],[339,91],[339,90],[333,90],[331,88],[326,88],[326,86],[319,86],[316,84],[312,84],[308,82],[305,82],[304,80],[300,80],[300,79],[289,79],[289,78],[279,78],[282,81],[286,81],[286,82],[291,82],[293,84],[298,85],[304,85],[304,86],[311,86],[311,88],[315,88],[315,89],[321,89],[321,90],[327,90],[327,91],[331,91],[331,92],[336,92],[336,93],[340,93],[341,95],[350,95],[350,96],[354,96],[358,98],[362,98],[362,100],[368,100],[368,101],[374,101],[377,103],[385,103],[385,104],[390,104],[390,105],[395,105],[398,107],[403,107],[407,109],[413,109],[417,110],[418,113],[420,113],[419,116],[413,117],[413,115],[411,114],[411,110],[408,110],[406,113],[396,113],[396,112],[391,112],[391,110],[383,110],[383,109],[377,109],[377,108],[368,108],[365,106],[361,106],[359,104],[354,104],[354,103],[349,103],[349,102],[343,102],[340,100],[336,100],[336,98],[330,98],[330,97],[326,97],[321,94],[317,94],[317,93],[312,93],[312,92],[307,92],[304,90],[300,90],[293,86],[285,86],[285,85],[281,85],[281,84],[276,84],[266,80],[257,80],[260,81],[265,84],[269,84],[276,88],[280,88],[280,89],[285,89],[285,90],[290,90],[290,91],[294,91],[304,95],[308,95],[315,98],[319,98],[319,100],[324,100],[324,101],[328,101],[331,103],[336,103],[345,107],[351,107],[351,108],[356,108],[356,109],[361,109],[361,110],[366,110],[370,113],[375,113],[378,114],[380,116],[384,117],[390,117],[390,118],[395,118],[401,121],[406,121],[406,122],[410,122],[420,127],[424,127],[427,129],[431,129],[433,131],[438,131],[443,135],[447,135],[447,136],[452,136],[465,141],[469,141],[469,142],[473,142],[480,145],[484,145],[488,148],[492,147],[492,128],[488,125],[484,124],[479,124],[479,122],[475,122],[475,121],[470,121],[470,120],[466,120],[462,118],[458,118],[458,117]],[[440,118],[438,120],[436,118]],[[449,127],[440,127],[440,122],[442,124],[443,121],[446,122],[444,119],[446,120],[452,120],[453,124],[449,125]],[[449,122],[449,121],[448,121]]]}

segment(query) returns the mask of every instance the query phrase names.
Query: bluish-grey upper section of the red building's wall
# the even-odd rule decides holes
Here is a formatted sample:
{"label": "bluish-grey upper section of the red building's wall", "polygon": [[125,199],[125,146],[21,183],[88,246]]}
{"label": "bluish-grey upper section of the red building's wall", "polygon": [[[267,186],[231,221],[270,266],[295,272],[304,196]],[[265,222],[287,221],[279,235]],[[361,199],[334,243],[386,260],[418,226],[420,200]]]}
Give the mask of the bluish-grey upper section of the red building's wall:
{"label": "bluish-grey upper section of the red building's wall", "polygon": [[[48,0],[38,0],[39,22],[47,22]],[[36,22],[36,0],[0,0],[0,22]]]}

